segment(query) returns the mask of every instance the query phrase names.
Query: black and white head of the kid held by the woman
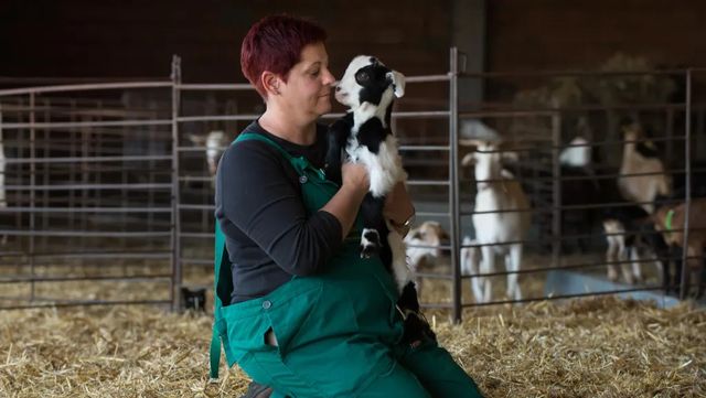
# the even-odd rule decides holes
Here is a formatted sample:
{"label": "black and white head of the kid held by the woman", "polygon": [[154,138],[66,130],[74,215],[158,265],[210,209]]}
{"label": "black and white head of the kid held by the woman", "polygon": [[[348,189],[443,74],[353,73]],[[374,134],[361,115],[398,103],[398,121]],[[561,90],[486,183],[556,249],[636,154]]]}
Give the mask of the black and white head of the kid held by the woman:
{"label": "black and white head of the kid held by the woman", "polygon": [[352,110],[365,103],[387,107],[403,95],[405,76],[370,55],[353,58],[335,87],[335,99]]}

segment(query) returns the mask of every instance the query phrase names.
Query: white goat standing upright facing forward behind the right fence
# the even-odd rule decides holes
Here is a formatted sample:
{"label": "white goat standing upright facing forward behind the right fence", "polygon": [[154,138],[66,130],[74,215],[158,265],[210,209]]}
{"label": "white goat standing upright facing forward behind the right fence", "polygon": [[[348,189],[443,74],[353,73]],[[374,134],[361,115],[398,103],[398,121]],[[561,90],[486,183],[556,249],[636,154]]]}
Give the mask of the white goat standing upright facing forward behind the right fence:
{"label": "white goat standing upright facing forward behind the right fence", "polygon": [[[530,201],[520,182],[502,170],[499,146],[475,142],[477,150],[467,154],[463,165],[475,164],[475,206],[473,208],[473,228],[475,240],[481,247],[482,259],[480,275],[473,294],[477,302],[491,300],[491,280],[483,273],[495,270],[495,256],[503,256],[509,272],[520,270],[522,263],[523,240],[530,229]],[[509,243],[509,244],[505,244]],[[507,297],[522,300],[517,273],[507,275]]]}

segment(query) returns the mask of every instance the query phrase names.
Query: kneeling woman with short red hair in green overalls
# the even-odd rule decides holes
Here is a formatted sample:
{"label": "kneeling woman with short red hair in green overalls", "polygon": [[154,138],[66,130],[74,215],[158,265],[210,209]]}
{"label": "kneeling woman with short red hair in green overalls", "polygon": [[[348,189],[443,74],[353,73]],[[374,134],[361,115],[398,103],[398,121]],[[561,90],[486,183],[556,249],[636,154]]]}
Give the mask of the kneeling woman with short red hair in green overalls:
{"label": "kneeling woman with short red hair in green overalls", "polygon": [[[228,364],[274,396],[480,397],[436,342],[399,343],[395,282],[378,259],[360,258],[353,230],[368,189],[364,168],[344,164],[341,186],[321,172],[327,129],[317,120],[331,109],[335,80],[324,40],[318,25],[277,15],[243,42],[243,73],[266,110],[216,175],[223,308],[214,333]],[[396,226],[414,215],[402,185],[386,208]]]}

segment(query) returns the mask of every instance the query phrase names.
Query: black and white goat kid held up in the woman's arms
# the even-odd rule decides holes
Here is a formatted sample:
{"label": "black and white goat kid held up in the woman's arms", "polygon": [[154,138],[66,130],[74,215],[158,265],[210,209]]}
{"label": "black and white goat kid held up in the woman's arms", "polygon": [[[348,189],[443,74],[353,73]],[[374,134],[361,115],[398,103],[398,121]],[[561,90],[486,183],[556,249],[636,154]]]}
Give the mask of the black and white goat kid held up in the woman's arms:
{"label": "black and white goat kid held up in the woman's arms", "polygon": [[397,306],[405,318],[405,340],[415,344],[425,335],[436,336],[420,318],[403,237],[383,216],[385,196],[407,179],[391,128],[394,99],[404,93],[405,76],[379,60],[359,55],[351,61],[335,88],[335,99],[349,111],[331,125],[325,172],[332,181],[341,182],[343,160],[366,166],[371,186],[362,205],[361,257],[379,255],[395,277],[400,293]]}

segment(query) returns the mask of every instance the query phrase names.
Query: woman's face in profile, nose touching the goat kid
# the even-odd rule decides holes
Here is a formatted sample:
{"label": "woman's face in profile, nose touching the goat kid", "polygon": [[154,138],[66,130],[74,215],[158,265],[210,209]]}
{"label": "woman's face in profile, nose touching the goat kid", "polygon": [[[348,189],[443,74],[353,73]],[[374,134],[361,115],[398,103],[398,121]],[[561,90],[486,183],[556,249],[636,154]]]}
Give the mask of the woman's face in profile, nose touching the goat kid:
{"label": "woman's face in profile, nose touching the goat kid", "polygon": [[281,105],[297,119],[310,122],[330,111],[335,78],[329,71],[323,43],[304,46],[299,63],[289,71],[287,83],[280,83]]}

